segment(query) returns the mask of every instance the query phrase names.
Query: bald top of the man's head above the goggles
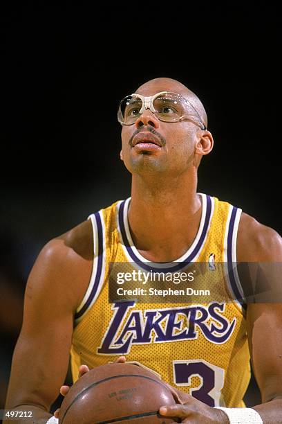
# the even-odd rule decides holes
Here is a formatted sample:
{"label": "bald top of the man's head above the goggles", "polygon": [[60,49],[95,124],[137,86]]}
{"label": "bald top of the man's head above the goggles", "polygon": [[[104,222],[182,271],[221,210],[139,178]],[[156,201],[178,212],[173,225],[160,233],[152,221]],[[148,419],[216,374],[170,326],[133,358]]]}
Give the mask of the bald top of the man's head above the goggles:
{"label": "bald top of the man's head above the goggles", "polygon": [[193,91],[189,90],[189,88],[185,87],[185,85],[177,80],[173,80],[172,78],[154,78],[140,85],[135,93],[142,94],[142,96],[152,96],[158,93],[158,91],[173,91],[187,98],[197,110],[205,127],[207,127],[207,114],[203,103]]}

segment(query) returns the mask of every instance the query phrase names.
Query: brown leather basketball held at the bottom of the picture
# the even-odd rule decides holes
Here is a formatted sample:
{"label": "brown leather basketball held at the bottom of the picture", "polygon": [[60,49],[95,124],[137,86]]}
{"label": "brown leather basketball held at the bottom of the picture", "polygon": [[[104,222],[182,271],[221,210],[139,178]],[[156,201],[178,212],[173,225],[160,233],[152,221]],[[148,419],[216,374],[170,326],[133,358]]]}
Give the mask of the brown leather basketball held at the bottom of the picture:
{"label": "brown leather basketball held at the bottom of the picture", "polygon": [[106,364],[84,374],[71,387],[59,411],[59,424],[178,423],[158,414],[176,401],[154,373],[135,364]]}

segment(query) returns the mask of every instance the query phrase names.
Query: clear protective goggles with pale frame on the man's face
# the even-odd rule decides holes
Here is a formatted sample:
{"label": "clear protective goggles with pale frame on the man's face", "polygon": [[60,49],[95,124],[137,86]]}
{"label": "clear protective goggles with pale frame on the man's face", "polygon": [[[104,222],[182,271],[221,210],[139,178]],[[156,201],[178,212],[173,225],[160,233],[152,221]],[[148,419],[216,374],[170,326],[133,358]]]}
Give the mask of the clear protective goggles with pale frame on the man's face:
{"label": "clear protective goggles with pale frame on the man's face", "polygon": [[191,120],[201,130],[207,129],[200,118],[200,114],[191,102],[187,98],[180,96],[180,94],[170,91],[160,91],[160,93],[149,97],[136,93],[124,97],[118,108],[118,121],[122,125],[132,125],[146,109],[150,109],[160,121],[179,122]]}

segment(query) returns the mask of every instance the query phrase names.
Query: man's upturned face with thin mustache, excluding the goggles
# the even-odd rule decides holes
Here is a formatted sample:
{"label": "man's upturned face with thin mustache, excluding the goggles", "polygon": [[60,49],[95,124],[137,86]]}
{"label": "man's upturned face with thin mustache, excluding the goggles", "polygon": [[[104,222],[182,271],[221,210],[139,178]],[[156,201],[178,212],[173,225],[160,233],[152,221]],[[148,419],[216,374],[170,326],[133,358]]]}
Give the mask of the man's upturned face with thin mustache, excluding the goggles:
{"label": "man's upturned face with thin mustache, excluding the goggles", "polygon": [[[148,82],[137,93],[153,96],[160,91],[173,91],[187,98],[187,93],[171,82]],[[191,121],[160,121],[146,109],[135,123],[122,127],[121,158],[133,174],[177,177],[193,164],[199,130]]]}

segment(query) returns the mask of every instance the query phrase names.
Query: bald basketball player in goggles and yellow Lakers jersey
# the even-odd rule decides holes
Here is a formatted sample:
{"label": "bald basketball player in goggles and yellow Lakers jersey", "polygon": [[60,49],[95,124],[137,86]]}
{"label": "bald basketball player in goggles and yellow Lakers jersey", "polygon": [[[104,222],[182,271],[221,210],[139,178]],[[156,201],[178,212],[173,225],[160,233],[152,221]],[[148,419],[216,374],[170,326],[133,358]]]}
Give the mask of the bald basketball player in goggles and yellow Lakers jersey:
{"label": "bald basketball player in goggles and yellow Lakers jersey", "polygon": [[[6,407],[32,411],[35,423],[56,423],[48,411],[71,351],[74,380],[82,364],[80,373],[120,355],[149,366],[181,391],[183,405],[161,408],[164,416],[185,423],[282,423],[281,304],[245,308],[237,276],[230,276],[226,303],[109,303],[110,263],[176,272],[191,262],[213,270],[216,260],[282,261],[273,229],[197,193],[198,166],[214,141],[193,92],[176,80],[151,80],[122,100],[118,120],[131,198],[94,213],[39,254],[26,287]],[[262,403],[245,408],[250,357]]]}

